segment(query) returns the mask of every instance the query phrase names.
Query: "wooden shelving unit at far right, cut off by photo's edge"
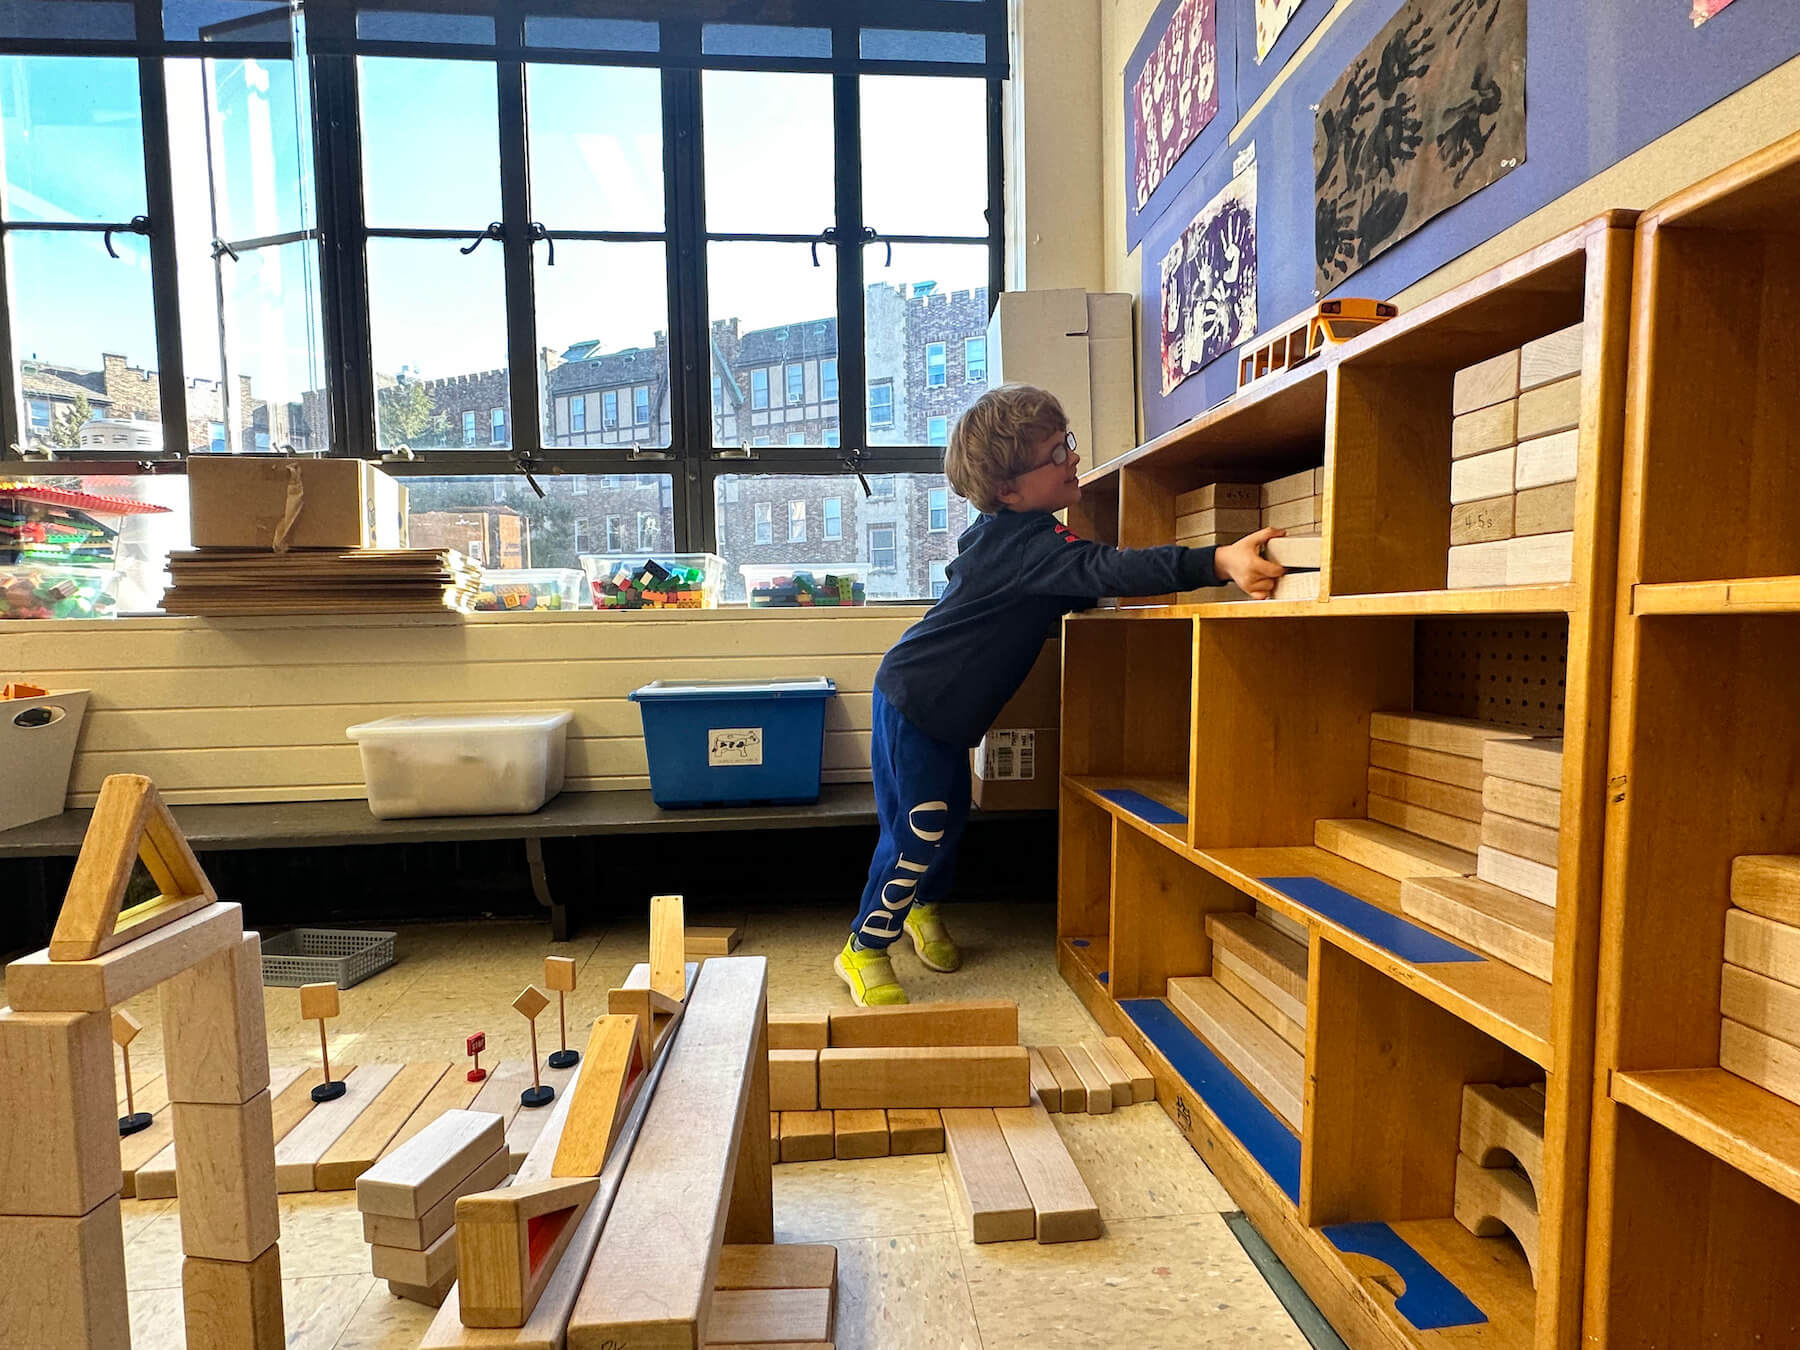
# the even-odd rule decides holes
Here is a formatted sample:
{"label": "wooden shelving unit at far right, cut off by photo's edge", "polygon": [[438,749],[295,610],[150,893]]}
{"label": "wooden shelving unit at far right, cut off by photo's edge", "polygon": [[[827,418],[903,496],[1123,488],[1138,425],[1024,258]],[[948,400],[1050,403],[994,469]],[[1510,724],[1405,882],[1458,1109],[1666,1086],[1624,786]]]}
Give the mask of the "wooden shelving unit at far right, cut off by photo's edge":
{"label": "wooden shelving unit at far right, cut off by photo's edge", "polygon": [[1588,1336],[1800,1343],[1800,1105],[1719,1066],[1730,864],[1800,853],[1800,137],[1638,227]]}

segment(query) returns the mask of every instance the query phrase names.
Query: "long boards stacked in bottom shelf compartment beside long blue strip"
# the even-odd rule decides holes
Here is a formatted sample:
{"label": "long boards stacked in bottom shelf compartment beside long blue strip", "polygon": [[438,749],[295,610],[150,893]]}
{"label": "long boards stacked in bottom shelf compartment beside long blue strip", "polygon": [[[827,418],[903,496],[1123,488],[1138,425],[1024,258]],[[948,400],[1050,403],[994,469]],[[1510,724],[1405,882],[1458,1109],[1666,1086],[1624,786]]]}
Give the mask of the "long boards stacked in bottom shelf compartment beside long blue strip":
{"label": "long boards stacked in bottom shelf compartment beside long blue strip", "polygon": [[[1298,934],[1298,936],[1296,936]],[[1307,1085],[1307,943],[1287,916],[1206,916],[1211,976],[1168,981],[1168,1004],[1294,1130]]]}

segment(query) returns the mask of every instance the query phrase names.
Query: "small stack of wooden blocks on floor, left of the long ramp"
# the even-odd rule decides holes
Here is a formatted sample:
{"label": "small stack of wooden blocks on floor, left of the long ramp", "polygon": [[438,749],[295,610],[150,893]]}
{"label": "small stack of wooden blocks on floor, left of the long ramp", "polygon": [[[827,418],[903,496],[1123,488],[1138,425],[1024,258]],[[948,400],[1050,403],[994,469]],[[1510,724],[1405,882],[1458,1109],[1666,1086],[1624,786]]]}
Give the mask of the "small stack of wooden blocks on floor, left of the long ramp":
{"label": "small stack of wooden blocks on floor, left of the long ramp", "polygon": [[437,1307],[455,1283],[455,1202],[504,1186],[506,1121],[446,1111],[356,1179],[369,1269],[389,1291]]}

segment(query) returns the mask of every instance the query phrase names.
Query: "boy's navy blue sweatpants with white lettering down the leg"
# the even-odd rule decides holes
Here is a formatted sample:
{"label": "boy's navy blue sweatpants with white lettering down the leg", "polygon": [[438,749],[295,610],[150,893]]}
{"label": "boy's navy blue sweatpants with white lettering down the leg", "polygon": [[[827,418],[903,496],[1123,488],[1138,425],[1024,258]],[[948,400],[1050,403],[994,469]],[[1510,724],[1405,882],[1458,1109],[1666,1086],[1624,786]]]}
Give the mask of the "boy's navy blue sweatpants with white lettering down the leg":
{"label": "boy's navy blue sweatpants with white lettering down the leg", "polygon": [[877,689],[869,767],[882,837],[855,934],[864,947],[887,947],[914,902],[932,904],[950,889],[968,823],[968,749],[932,740]]}

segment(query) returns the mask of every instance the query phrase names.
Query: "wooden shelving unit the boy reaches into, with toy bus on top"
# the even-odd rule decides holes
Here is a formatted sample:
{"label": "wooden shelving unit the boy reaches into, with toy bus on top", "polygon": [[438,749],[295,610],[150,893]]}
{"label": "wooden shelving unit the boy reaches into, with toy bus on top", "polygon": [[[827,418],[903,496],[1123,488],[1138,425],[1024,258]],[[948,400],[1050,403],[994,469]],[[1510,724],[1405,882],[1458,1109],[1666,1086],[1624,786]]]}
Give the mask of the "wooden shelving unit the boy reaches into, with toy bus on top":
{"label": "wooden shelving unit the boy reaches into, with toy bus on top", "polygon": [[[1318,601],[1066,623],[1058,932],[1064,977],[1357,1350],[1580,1339],[1633,221],[1593,220],[1253,385],[1087,475],[1071,511],[1094,538],[1172,544],[1184,491],[1327,468]],[[1573,576],[1445,590],[1453,376],[1571,324]],[[1390,709],[1562,734],[1548,981],[1445,959],[1400,882],[1314,846],[1316,821],[1366,814],[1370,716]],[[1206,916],[1251,909],[1307,940],[1298,1134],[1166,1001],[1170,977],[1213,974]],[[1546,1085],[1535,1289],[1517,1244],[1453,1217],[1462,1089],[1481,1082]],[[1449,1296],[1415,1267],[1397,1298],[1354,1251],[1372,1226]]]}

